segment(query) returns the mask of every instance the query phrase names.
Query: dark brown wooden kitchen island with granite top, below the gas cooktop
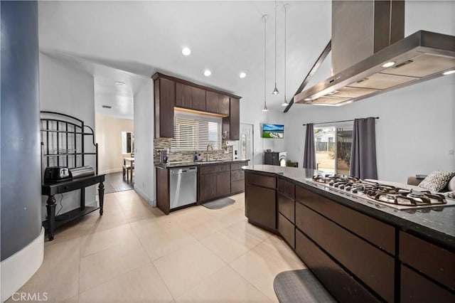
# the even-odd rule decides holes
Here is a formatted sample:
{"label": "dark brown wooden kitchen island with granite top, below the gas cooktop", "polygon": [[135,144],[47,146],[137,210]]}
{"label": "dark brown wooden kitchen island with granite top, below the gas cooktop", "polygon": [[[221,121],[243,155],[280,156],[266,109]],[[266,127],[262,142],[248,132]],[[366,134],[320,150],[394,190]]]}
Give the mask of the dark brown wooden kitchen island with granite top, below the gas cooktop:
{"label": "dark brown wooden kitchen island with granite top, below the gas cooktop", "polygon": [[340,302],[455,302],[455,207],[399,211],[311,182],[311,169],[245,170],[248,221],[277,233]]}

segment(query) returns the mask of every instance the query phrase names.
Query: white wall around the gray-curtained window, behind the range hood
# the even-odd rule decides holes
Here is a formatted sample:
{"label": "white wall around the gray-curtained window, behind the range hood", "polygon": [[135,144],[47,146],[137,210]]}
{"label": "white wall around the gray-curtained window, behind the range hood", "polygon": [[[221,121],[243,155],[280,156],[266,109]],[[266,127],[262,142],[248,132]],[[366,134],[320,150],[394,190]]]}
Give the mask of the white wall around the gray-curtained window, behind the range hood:
{"label": "white wall around the gray-curtained window, behind the range hood", "polygon": [[[406,1],[405,5],[405,36],[419,29],[455,34],[454,1]],[[455,158],[449,151],[455,149],[454,100],[455,76],[449,75],[342,107],[294,105],[283,114],[288,159],[302,166],[304,123],[378,116],[379,179],[405,182],[415,174],[453,171]]]}

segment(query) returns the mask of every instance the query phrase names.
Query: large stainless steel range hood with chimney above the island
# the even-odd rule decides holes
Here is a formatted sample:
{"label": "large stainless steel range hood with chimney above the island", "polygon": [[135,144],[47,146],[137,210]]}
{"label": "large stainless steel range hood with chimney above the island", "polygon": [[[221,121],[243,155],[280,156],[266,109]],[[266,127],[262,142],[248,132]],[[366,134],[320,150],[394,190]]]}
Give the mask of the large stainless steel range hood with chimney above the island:
{"label": "large stainless steel range hood with chimney above the island", "polygon": [[332,1],[332,76],[294,102],[340,106],[455,70],[455,36],[402,38],[404,15],[404,1]]}

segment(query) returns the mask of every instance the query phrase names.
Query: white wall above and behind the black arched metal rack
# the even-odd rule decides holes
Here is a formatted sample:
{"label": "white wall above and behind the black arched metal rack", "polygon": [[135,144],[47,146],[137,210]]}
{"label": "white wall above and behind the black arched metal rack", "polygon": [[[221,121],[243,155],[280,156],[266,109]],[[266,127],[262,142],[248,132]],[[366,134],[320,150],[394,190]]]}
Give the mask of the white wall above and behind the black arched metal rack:
{"label": "white wall above and behind the black arched metal rack", "polygon": [[[40,53],[40,103],[41,110],[61,112],[77,117],[90,127],[95,127],[95,97],[93,77],[74,63],[52,58]],[[85,147],[92,147],[92,137],[86,136]],[[94,151],[95,149],[86,151]],[[85,165],[95,167],[95,156],[87,156]],[[44,169],[44,167],[43,167]],[[55,196],[60,202],[60,195]],[[45,218],[45,201],[43,197],[43,219]],[[85,189],[85,205],[96,205],[95,186]],[[80,191],[63,194],[65,213],[80,206]],[[57,211],[60,206],[57,206]]]}

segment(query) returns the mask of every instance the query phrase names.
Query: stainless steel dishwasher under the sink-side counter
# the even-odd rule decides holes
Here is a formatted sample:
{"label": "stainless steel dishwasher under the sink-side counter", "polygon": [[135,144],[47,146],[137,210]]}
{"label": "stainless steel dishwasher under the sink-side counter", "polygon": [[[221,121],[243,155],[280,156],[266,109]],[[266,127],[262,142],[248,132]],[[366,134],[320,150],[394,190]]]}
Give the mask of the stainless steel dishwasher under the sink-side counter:
{"label": "stainless steel dishwasher under the sink-side counter", "polygon": [[171,209],[196,202],[197,172],[196,166],[170,169]]}

